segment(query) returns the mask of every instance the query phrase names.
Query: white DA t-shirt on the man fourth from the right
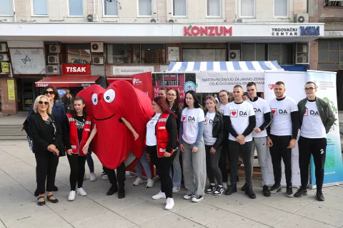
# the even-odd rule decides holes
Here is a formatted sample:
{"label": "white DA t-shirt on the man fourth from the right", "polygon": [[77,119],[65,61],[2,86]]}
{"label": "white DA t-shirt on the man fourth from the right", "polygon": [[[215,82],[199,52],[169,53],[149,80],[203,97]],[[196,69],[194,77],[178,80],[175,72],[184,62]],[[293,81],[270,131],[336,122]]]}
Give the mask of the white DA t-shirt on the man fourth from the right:
{"label": "white DA t-shirt on the man fourth from the right", "polygon": [[[243,101],[239,104],[234,102],[227,104],[224,110],[224,115],[229,115],[232,127],[238,135],[242,135],[249,125],[249,117],[255,115],[255,113],[252,104]],[[235,141],[236,138],[229,134],[229,140]],[[250,133],[247,135],[244,141],[252,141],[252,134]]]}

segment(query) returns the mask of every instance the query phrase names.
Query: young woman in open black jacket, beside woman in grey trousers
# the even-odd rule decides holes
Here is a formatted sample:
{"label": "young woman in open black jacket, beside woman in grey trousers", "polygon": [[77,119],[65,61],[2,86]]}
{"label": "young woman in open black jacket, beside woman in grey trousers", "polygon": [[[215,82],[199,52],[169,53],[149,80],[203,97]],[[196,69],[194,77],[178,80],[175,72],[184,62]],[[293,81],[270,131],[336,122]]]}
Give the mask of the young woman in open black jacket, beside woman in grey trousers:
{"label": "young woman in open black jacket, beside woman in grey trousers", "polygon": [[[223,194],[224,187],[222,172],[219,169],[218,163],[222,153],[222,142],[227,137],[227,133],[224,130],[223,115],[219,112],[214,97],[208,95],[205,102],[204,142],[207,176],[209,177],[209,187],[206,193],[219,196]],[[214,178],[217,180],[217,187]]]}

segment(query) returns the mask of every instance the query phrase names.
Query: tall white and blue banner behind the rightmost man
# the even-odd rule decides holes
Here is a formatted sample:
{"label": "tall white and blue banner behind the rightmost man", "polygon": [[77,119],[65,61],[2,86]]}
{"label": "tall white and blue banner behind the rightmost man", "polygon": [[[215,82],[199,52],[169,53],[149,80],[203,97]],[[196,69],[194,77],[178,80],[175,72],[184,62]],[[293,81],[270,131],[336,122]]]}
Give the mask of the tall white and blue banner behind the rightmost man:
{"label": "tall white and blue banner behind the rightmost man", "polygon": [[[339,138],[339,120],[337,111],[337,88],[335,72],[308,71],[307,81],[313,81],[317,85],[316,95],[326,100],[334,112],[336,121],[327,134],[327,152],[324,166],[324,186],[337,185],[343,182],[343,164],[341,141]],[[313,157],[310,163],[310,185],[316,187],[316,176]]]}

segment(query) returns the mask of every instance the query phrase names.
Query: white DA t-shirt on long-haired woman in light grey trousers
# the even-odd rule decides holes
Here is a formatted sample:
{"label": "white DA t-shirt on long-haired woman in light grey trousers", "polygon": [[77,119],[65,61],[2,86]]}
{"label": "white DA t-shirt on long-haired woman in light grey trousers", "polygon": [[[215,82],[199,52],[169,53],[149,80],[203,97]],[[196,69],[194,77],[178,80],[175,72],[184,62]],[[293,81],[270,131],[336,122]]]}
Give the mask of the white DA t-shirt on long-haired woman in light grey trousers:
{"label": "white DA t-shirt on long-haired woman in light grey trousers", "polygon": [[193,144],[197,140],[198,123],[205,120],[204,111],[201,108],[184,108],[182,110],[182,140]]}

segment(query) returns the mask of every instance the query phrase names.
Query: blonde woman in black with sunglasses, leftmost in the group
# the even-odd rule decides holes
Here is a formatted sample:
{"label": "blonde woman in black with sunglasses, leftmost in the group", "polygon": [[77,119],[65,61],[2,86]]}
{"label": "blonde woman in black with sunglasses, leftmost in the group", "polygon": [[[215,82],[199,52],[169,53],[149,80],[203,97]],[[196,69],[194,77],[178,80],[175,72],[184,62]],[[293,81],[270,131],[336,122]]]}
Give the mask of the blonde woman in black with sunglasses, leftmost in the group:
{"label": "blonde woman in black with sunglasses, leftmost in the group", "polygon": [[29,117],[29,130],[33,141],[33,152],[36,157],[36,181],[38,204],[45,204],[46,198],[52,203],[59,202],[52,195],[55,185],[62,134],[58,120],[51,115],[51,103],[45,95],[39,95],[34,101],[34,114]]}

